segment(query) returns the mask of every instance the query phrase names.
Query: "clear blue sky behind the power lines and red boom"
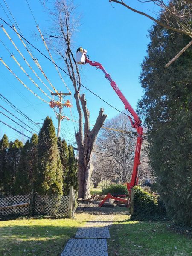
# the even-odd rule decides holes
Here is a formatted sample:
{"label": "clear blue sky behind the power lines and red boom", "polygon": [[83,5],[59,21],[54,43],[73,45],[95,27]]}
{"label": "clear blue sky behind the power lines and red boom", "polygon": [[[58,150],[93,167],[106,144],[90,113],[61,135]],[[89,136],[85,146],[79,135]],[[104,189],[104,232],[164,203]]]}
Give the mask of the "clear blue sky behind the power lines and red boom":
{"label": "clear blue sky behind the power lines and red boom", "polygon": [[[38,0],[28,1],[41,31],[45,31],[46,29],[50,28],[52,26],[51,17],[47,14],[47,12],[45,12],[45,9],[41,3]],[[150,3],[141,4],[137,1],[131,2],[134,2],[135,8],[140,9],[143,12],[149,12],[148,9],[154,10]],[[0,3],[3,5],[4,9],[9,15],[3,0],[0,0]],[[38,33],[38,31],[29,7],[27,6],[26,0],[6,0],[6,3],[9,6],[12,15],[15,17],[15,20],[23,35],[32,44],[38,47],[38,49],[44,52],[44,54],[49,56],[43,42],[34,36],[34,33]],[[49,0],[48,5],[52,6],[52,3],[54,3],[54,1]],[[74,3],[78,5],[76,12],[81,15],[81,20],[79,21],[80,26],[75,37],[73,38],[74,52],[76,52],[76,49],[80,45],[84,49],[87,49],[87,54],[90,55],[90,59],[100,62],[105,67],[108,73],[110,73],[111,77],[116,81],[116,84],[119,86],[120,90],[122,90],[122,93],[128,99],[132,107],[136,109],[137,102],[143,95],[138,77],[141,72],[140,64],[146,55],[147,44],[149,43],[147,34],[148,29],[150,29],[152,25],[151,20],[131,12],[125,7],[119,6],[115,3],[111,4],[108,0],[74,0]],[[0,17],[5,19],[10,24],[8,17],[3,12],[1,6]],[[10,15],[9,17],[12,20]],[[12,23],[15,24],[14,21],[12,21]],[[4,28],[23,53],[29,64],[33,67],[35,72],[38,73],[41,79],[47,84],[47,86],[49,86],[44,77],[41,75],[41,72],[39,72],[38,68],[35,66],[34,62],[26,52],[26,49],[17,38],[17,35],[15,35],[15,32],[9,29],[9,27],[6,25],[4,25]],[[14,54],[17,61],[19,61],[19,63],[34,79],[34,81],[40,85],[46,93],[49,93],[49,91],[38,82],[38,79],[36,79],[32,71],[27,67],[1,28],[0,39],[9,49],[9,51]],[[32,47],[30,48],[32,49]],[[53,64],[49,63],[49,61],[41,56],[36,50],[32,49],[32,52],[35,57],[38,58],[41,67],[44,69],[49,80],[57,88],[57,90],[67,92]],[[65,69],[66,67],[64,62],[62,62],[61,59],[54,54],[54,52],[52,52],[52,55],[55,62]],[[27,78],[22,70],[20,70],[15,61],[10,57],[10,53],[1,42],[0,57],[3,58],[3,61],[8,64],[8,66],[28,87],[30,87],[40,97],[49,101],[49,99]],[[64,74],[62,71],[61,73],[67,83],[67,86],[72,88],[72,84],[70,83],[70,80],[66,74]],[[81,78],[82,84],[90,88],[90,90],[93,90],[94,93],[101,96],[111,105],[114,105],[119,110],[123,110],[124,105],[113,91],[108,81],[105,79],[105,76],[101,70],[96,70],[94,67],[91,67],[88,64],[84,65],[81,70]],[[81,92],[85,93],[86,95],[87,106],[90,110],[91,124],[94,124],[96,121],[99,109],[101,107],[104,108],[105,113],[108,115],[108,119],[118,114],[117,111],[96,98],[87,90],[82,89]],[[42,120],[48,115],[52,117],[54,125],[57,127],[55,113],[49,107],[49,105],[42,102],[32,93],[30,93],[22,84],[20,84],[19,81],[17,81],[17,79],[9,72],[9,70],[6,69],[6,67],[3,66],[2,63],[0,63],[0,93],[10,102],[12,102],[17,108],[23,111],[23,113],[29,116],[29,118],[34,122],[42,123]],[[68,116],[70,119],[73,118],[77,120],[78,115],[75,102],[73,101],[73,103],[74,105],[71,113],[68,108],[64,108],[64,115]],[[26,124],[28,124],[31,128],[34,128],[37,132],[39,131],[38,128],[35,128],[35,125],[32,125],[25,118],[20,116],[2,99],[0,99],[0,105],[16,115],[23,122],[26,122]],[[6,113],[6,111],[4,111],[2,108],[0,111]],[[10,114],[8,115],[16,120]],[[71,117],[71,115],[73,117]],[[1,113],[0,120],[31,137],[31,134],[28,131],[23,130],[23,128],[20,128]],[[64,137],[68,143],[73,143],[73,145],[75,145],[74,128],[77,130],[77,123],[66,120],[62,121],[61,137]],[[0,123],[0,137],[2,137],[4,133],[8,135],[9,140],[15,140],[16,138],[26,140],[25,137],[20,136],[20,134],[17,134],[17,132]]]}

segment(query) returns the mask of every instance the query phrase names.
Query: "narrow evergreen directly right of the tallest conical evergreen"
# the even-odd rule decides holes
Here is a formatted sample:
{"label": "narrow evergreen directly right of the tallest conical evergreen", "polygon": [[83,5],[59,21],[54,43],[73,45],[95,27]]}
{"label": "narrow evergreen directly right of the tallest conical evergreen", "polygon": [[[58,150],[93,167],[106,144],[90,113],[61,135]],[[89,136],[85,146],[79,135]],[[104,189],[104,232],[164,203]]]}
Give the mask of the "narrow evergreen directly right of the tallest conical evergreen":
{"label": "narrow evergreen directly right of the tallest conical evergreen", "polygon": [[69,149],[65,140],[61,141],[61,138],[58,138],[58,150],[61,158],[61,164],[63,168],[63,193],[68,195],[68,172],[69,172]]}

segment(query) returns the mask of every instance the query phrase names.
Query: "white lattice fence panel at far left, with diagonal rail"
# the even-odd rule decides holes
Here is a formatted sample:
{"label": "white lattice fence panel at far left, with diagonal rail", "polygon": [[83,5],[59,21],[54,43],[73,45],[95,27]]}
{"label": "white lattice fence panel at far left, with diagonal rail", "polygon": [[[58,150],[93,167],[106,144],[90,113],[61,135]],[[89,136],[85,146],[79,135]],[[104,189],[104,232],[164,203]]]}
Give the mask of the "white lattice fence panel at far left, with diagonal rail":
{"label": "white lattice fence panel at far left, with diagonal rail", "polygon": [[[14,213],[16,214],[28,213],[29,201],[30,201],[30,195],[13,195],[13,196],[0,198],[0,215],[6,216]],[[28,204],[19,205],[24,203],[28,203]]]}

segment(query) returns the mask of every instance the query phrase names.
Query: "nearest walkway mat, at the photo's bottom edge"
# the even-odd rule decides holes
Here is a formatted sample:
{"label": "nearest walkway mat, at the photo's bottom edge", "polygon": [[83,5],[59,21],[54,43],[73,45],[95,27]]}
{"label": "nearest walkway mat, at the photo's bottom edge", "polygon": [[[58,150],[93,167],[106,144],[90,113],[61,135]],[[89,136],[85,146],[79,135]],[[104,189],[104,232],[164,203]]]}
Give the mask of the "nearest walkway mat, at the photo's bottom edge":
{"label": "nearest walkway mat, at the photo's bottom edge", "polygon": [[61,256],[108,256],[106,239],[70,239]]}

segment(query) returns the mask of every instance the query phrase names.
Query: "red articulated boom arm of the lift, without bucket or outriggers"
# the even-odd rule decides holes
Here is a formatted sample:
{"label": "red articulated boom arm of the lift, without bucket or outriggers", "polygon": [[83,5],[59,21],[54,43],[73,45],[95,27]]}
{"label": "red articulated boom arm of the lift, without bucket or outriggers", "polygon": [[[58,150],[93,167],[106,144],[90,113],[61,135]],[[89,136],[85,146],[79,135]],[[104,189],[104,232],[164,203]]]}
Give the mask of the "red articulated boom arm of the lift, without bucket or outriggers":
{"label": "red articulated boom arm of the lift, without bucket or outriggers", "polygon": [[104,69],[102,64],[100,64],[99,62],[90,61],[87,57],[86,57],[85,63],[89,63],[91,66],[99,68],[103,71],[103,73],[105,74],[105,78],[108,79],[109,83],[115,90],[116,94],[119,96],[119,98],[125,105],[125,109],[131,114],[131,116],[133,116],[133,118],[131,118],[131,116],[128,116],[128,118],[131,122],[132,127],[134,127],[137,130],[138,137],[137,137],[137,145],[136,145],[136,151],[135,151],[135,157],[134,157],[133,173],[132,173],[130,183],[127,183],[127,189],[128,189],[128,191],[130,191],[130,189],[134,185],[138,184],[138,167],[140,165],[140,151],[141,151],[141,143],[142,143],[142,135],[143,135],[143,128],[141,127],[141,120],[140,120],[139,116],[137,115],[137,113],[134,111],[134,109],[131,107],[131,105],[125,98],[125,96],[119,90],[119,87],[116,85],[115,81],[113,81],[111,76]]}

